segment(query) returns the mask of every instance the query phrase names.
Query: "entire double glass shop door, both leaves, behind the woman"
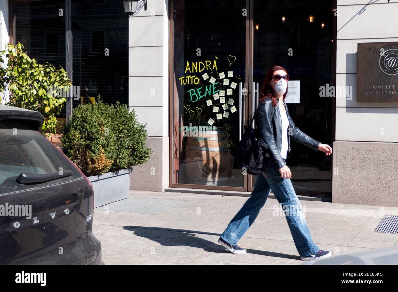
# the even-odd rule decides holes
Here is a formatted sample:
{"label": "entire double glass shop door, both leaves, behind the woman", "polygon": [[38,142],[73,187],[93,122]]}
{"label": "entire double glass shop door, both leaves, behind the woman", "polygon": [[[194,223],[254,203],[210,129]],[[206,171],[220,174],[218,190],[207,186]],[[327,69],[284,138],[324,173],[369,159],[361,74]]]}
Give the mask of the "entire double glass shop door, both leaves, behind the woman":
{"label": "entire double glass shop door, both leaves, behind the woman", "polygon": [[[290,75],[296,126],[332,145],[333,0],[172,2],[170,186],[252,191],[232,153],[261,97],[267,70]],[[292,82],[293,81],[293,82]],[[331,157],[291,139],[297,193],[330,195]]]}

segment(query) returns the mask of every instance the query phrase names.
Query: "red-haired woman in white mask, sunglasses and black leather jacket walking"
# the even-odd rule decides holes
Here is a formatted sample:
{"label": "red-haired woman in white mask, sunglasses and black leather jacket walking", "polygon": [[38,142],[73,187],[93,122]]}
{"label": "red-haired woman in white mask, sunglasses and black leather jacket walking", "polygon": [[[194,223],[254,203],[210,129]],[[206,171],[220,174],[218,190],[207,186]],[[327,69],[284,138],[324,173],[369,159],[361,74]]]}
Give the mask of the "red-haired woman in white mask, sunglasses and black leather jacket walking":
{"label": "red-haired woman in white mask, sunglasses and black leather jacket walking", "polygon": [[256,219],[272,190],[285,212],[298,254],[303,261],[328,257],[332,253],[320,249],[311,238],[300,201],[291,183],[291,171],[286,165],[290,152],[290,137],[326,155],[332,154],[332,147],[322,144],[298,129],[290,118],[285,103],[287,94],[287,70],[273,66],[265,76],[261,98],[257,109],[256,122],[260,137],[269,145],[265,155],[262,174],[257,176],[252,196],[244,203],[219,238],[219,244],[232,253],[245,253],[238,241]]}

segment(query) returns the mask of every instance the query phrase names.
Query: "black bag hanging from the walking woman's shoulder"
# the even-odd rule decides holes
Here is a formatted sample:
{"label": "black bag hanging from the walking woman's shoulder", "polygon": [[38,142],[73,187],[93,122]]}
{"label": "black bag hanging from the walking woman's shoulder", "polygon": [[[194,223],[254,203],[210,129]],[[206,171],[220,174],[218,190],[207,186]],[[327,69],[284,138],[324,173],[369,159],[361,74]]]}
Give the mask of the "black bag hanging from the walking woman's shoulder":
{"label": "black bag hanging from the walking woman's shoulder", "polygon": [[[271,122],[274,108],[272,107]],[[253,129],[252,123],[257,110],[239,141],[236,151],[232,154],[236,163],[242,169],[246,168],[248,174],[259,175],[264,168],[264,155],[269,150],[268,144],[259,136],[259,129]]]}

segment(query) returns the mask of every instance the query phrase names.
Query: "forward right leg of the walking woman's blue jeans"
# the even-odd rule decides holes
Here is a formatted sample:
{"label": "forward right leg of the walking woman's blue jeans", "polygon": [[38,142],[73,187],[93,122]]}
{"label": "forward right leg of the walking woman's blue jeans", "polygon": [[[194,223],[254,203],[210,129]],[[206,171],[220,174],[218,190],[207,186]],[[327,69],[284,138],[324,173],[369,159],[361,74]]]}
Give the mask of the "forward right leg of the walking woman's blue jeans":
{"label": "forward right leg of the walking woman's blue jeans", "polygon": [[268,163],[263,171],[273,194],[281,204],[285,212],[287,224],[289,225],[298,254],[307,257],[319,251],[319,247],[312,241],[310,230],[304,218],[302,206],[288,178],[281,178],[276,164]]}

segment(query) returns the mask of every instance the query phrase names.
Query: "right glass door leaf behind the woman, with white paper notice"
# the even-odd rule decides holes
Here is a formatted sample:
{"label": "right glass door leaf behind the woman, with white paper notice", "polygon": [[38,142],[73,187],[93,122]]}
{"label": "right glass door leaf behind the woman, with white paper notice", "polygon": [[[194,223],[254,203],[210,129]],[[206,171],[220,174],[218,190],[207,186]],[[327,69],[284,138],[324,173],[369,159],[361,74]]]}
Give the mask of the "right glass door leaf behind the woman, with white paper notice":
{"label": "right glass door leaf behind the woman, with white paper notice", "polygon": [[[261,89],[274,65],[289,74],[285,99],[295,125],[332,145],[332,98],[320,87],[332,85],[333,0],[259,1],[253,6],[253,82]],[[287,165],[296,193],[331,194],[331,156],[291,139]],[[250,178],[250,188],[256,177]]]}

